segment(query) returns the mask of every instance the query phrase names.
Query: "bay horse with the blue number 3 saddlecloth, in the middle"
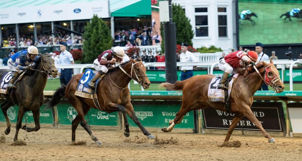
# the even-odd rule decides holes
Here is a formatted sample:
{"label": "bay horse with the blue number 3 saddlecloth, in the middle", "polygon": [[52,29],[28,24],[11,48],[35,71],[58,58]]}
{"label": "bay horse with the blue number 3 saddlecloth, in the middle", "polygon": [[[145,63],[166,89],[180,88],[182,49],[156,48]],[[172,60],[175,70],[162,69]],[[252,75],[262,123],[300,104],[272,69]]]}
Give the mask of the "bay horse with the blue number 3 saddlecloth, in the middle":
{"label": "bay horse with the blue number 3 saddlecloth, in the middle", "polygon": [[[79,123],[81,123],[81,126],[88,132],[92,140],[100,146],[101,142],[92,134],[85,119],[85,115],[91,107],[95,109],[98,108],[94,105],[92,99],[74,95],[82,76],[83,74],[77,74],[71,78],[66,87],[63,86],[58,88],[54,92],[51,101],[48,102],[48,107],[57,105],[61,98],[66,95],[70,104],[78,113],[76,118],[72,121],[71,141],[74,142],[76,140],[76,128]],[[130,102],[130,91],[128,88],[128,84],[131,79],[136,80],[144,89],[147,89],[150,86],[149,78],[146,75],[146,67],[143,65],[141,58],[135,60],[130,59],[130,61],[123,63],[120,68],[116,67],[108,71],[97,86],[98,102],[102,111],[107,113],[120,111],[123,114],[125,122],[124,135],[126,137],[130,136],[129,123],[126,117],[127,113],[143,131],[143,134],[148,136],[148,139],[153,139],[154,136],[143,127],[135,116],[133,106]]]}

